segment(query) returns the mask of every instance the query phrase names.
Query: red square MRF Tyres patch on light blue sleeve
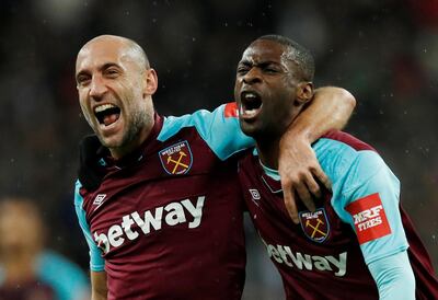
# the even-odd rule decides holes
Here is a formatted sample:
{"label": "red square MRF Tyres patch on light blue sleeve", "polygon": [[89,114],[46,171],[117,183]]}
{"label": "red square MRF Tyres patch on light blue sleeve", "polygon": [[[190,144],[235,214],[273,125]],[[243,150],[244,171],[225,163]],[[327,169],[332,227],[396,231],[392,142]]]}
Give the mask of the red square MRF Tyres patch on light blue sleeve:
{"label": "red square MRF Tyres patch on light blue sleeve", "polygon": [[353,217],[360,244],[391,234],[379,193],[357,199],[345,209]]}

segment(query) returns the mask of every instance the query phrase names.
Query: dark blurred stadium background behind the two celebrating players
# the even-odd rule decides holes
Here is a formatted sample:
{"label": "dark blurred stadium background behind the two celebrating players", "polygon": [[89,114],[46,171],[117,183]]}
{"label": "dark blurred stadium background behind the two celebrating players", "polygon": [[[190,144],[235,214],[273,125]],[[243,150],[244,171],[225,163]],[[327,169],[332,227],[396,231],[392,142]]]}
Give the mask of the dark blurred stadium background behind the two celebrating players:
{"label": "dark blurred stadium background behind the two celebrating players", "polygon": [[[403,206],[438,266],[437,1],[2,0],[0,24],[0,194],[38,201],[48,246],[84,269],[72,189],[90,129],[73,72],[81,45],[104,33],[146,48],[159,74],[155,106],[176,115],[231,101],[240,54],[255,37],[279,33],[309,47],[316,85],[356,96],[347,130],[401,178]],[[276,273],[251,228],[249,236],[245,299],[278,299]]]}

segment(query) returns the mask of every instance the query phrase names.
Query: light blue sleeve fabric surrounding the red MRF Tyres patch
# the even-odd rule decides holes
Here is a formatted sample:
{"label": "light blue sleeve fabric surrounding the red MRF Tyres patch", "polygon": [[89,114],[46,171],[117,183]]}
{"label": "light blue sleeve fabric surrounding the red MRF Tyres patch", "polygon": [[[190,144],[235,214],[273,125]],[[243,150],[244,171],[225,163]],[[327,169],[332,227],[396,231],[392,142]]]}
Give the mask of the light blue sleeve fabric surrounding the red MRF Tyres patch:
{"label": "light blue sleeve fabric surrounding the red MRF Tyres patch", "polygon": [[400,182],[378,153],[323,139],[314,147],[321,166],[332,181],[331,204],[337,216],[355,229],[346,207],[362,197],[379,194],[391,233],[360,245],[365,262],[400,253],[408,247],[399,209]]}

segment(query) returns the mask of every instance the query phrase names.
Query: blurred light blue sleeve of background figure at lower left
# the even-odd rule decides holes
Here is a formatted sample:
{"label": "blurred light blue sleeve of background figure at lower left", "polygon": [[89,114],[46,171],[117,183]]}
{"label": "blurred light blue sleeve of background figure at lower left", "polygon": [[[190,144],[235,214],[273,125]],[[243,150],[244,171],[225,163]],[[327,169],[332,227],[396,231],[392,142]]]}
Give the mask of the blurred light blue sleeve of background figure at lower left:
{"label": "blurred light blue sleeve of background figure at lower left", "polygon": [[51,251],[44,251],[37,262],[38,277],[49,285],[59,300],[80,300],[90,295],[89,279],[84,272]]}

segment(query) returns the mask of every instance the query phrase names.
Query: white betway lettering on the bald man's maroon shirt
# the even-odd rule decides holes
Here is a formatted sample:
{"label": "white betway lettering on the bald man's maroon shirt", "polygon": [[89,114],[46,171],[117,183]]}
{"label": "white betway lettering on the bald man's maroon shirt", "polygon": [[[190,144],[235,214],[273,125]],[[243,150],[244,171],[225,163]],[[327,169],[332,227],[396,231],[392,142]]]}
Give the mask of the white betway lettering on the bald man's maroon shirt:
{"label": "white betway lettering on the bald man's maroon shirt", "polygon": [[[120,246],[126,239],[136,240],[140,233],[149,234],[151,231],[161,230],[163,222],[168,226],[176,226],[187,222],[187,215],[193,220],[187,223],[189,229],[197,228],[203,218],[205,196],[199,196],[196,206],[189,199],[170,203],[166,206],[157,207],[153,211],[146,210],[142,215],[138,211],[125,215],[122,222],[110,227],[105,233],[94,232],[94,241],[104,253],[108,253],[111,247]],[[137,224],[138,230],[132,229]]]}

